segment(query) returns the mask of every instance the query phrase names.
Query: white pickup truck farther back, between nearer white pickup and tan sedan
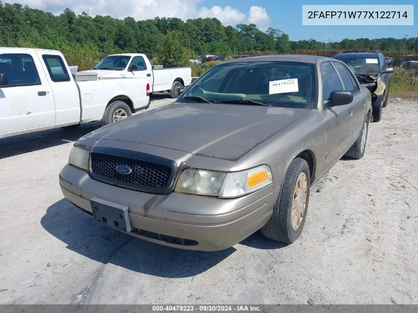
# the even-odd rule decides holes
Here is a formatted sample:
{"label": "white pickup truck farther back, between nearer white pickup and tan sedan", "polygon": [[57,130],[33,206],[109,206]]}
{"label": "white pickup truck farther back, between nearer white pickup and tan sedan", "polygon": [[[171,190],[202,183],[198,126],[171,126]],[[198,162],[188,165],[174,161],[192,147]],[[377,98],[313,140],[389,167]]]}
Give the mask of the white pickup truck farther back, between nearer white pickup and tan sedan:
{"label": "white pickup truck farther back, between nearer white pickup and tan sedan", "polygon": [[[190,67],[152,66],[145,54],[125,53],[106,56],[93,71],[99,79],[106,78],[144,78],[148,81],[150,92],[169,91],[173,98],[180,96],[179,89],[190,86]],[[89,71],[91,72],[91,71]]]}

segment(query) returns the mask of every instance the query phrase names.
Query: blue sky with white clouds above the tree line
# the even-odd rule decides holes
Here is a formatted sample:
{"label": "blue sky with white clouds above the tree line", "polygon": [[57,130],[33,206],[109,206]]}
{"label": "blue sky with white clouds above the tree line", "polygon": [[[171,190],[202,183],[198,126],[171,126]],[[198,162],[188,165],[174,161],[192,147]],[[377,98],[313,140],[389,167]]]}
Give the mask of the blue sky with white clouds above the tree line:
{"label": "blue sky with white clouds above the tree line", "polygon": [[[261,30],[279,28],[290,40],[313,38],[317,41],[341,41],[345,38],[404,38],[418,37],[418,0],[3,0],[19,2],[30,7],[60,14],[65,8],[76,13],[83,11],[94,16],[110,15],[115,18],[132,16],[137,20],[155,16],[178,17],[183,20],[196,17],[216,17],[224,25],[254,23]],[[415,4],[414,26],[302,26],[302,4]]]}

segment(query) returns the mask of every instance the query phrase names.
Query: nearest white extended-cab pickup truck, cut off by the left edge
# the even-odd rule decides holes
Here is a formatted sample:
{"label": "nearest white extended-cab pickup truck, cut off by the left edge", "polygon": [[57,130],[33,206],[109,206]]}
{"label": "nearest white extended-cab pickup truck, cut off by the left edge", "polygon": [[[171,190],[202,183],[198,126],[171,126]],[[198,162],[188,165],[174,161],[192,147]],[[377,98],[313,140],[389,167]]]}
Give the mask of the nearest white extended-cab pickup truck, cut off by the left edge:
{"label": "nearest white extended-cab pickup truck, cut off by the left edge", "polygon": [[149,106],[146,79],[71,73],[55,50],[0,47],[0,138],[101,120]]}

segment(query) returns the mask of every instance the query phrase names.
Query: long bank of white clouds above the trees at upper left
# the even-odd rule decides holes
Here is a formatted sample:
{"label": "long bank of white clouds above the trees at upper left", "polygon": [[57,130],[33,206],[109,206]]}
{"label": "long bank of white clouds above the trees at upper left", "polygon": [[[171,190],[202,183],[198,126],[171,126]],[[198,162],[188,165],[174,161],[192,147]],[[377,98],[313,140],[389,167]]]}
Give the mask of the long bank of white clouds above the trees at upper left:
{"label": "long bank of white clouds above the trees at upper left", "polygon": [[266,9],[251,6],[248,13],[231,6],[215,5],[211,8],[200,7],[202,0],[3,0],[9,3],[27,4],[32,8],[60,14],[70,8],[76,14],[85,11],[94,15],[110,15],[114,18],[132,16],[137,20],[160,17],[178,17],[183,20],[196,17],[216,17],[224,25],[235,26],[239,23],[254,23],[262,29],[270,26],[271,19]]}

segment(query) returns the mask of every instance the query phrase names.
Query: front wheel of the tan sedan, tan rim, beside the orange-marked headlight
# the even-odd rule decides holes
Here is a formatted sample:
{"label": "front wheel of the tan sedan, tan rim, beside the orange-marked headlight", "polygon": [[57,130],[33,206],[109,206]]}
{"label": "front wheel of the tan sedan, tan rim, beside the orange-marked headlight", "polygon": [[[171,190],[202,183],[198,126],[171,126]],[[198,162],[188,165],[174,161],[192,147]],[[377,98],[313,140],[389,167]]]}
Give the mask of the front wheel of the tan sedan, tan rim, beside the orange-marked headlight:
{"label": "front wheel of the tan sedan, tan rim, beside the orange-marked headlight", "polygon": [[301,158],[292,161],[269,222],[261,233],[270,239],[292,243],[299,238],[305,224],[311,188],[308,163]]}

